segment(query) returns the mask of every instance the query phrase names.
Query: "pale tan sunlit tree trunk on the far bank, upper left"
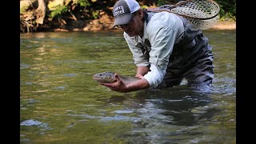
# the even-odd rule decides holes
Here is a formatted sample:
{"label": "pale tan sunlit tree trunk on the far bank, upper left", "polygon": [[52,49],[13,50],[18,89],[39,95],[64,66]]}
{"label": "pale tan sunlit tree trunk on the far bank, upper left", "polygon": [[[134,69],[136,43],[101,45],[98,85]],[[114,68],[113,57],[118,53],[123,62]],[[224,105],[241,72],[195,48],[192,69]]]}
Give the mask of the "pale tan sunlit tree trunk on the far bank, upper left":
{"label": "pale tan sunlit tree trunk on the far bank, upper left", "polygon": [[38,0],[38,9],[35,11],[37,24],[43,24],[44,18],[46,16],[46,3],[44,0]]}

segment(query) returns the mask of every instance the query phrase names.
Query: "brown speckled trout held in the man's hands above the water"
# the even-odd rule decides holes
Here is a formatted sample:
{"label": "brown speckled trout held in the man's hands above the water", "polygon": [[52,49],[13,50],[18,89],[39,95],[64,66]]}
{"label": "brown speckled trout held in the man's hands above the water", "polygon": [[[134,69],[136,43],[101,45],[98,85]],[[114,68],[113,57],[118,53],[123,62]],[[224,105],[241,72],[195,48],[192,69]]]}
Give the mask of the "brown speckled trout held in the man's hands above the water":
{"label": "brown speckled trout held in the man's hands above the water", "polygon": [[[116,73],[110,72],[110,71],[105,71],[102,73],[94,74],[93,79],[100,83],[114,83],[114,82],[117,82],[117,79],[115,78],[114,74],[116,74]],[[121,81],[125,85],[128,85],[133,82],[137,82],[138,80],[141,79],[141,78],[132,77],[132,76],[122,76],[120,74],[118,74],[118,77],[121,79]]]}

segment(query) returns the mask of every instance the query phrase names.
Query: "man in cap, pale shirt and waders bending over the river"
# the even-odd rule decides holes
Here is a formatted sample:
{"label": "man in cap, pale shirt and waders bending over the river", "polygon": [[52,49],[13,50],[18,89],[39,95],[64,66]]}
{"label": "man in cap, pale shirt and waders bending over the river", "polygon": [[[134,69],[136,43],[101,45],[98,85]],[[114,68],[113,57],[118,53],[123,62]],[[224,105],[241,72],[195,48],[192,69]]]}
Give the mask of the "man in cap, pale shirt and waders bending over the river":
{"label": "man in cap, pale shirt and waders bending over the river", "polygon": [[110,90],[130,92],[150,87],[178,86],[186,78],[187,86],[209,89],[214,78],[211,46],[201,30],[185,18],[166,11],[142,10],[135,0],[115,3],[114,26],[122,28],[133,54],[138,82],[125,85],[102,83]]}

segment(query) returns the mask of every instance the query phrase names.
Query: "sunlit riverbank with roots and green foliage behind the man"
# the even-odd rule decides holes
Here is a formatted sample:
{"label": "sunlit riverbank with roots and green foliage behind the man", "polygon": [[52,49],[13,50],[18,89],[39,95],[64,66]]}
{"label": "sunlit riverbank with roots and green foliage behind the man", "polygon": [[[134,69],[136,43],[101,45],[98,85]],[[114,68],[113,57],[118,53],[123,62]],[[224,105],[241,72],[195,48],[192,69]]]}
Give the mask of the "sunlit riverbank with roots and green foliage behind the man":
{"label": "sunlit riverbank with roots and green foliage behind the man", "polygon": [[[116,1],[118,0],[20,0],[20,33],[117,30],[112,29],[112,10]],[[232,9],[236,2],[215,1],[220,6],[220,19],[210,29],[236,30],[235,9]],[[167,2],[174,4],[178,0],[138,2],[142,8],[150,8]]]}

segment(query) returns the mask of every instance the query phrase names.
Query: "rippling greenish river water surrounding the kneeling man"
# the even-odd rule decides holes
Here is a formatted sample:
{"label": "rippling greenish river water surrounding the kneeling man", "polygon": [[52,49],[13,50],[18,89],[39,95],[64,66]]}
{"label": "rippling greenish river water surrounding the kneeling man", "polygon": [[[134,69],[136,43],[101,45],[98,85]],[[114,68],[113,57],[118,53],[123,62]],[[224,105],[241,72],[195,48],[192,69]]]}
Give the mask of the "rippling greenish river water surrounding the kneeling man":
{"label": "rippling greenish river water surrounding the kneeling man", "polygon": [[122,32],[20,34],[21,143],[236,143],[236,31],[205,30],[212,93],[150,89],[126,94],[92,79],[134,76]]}

